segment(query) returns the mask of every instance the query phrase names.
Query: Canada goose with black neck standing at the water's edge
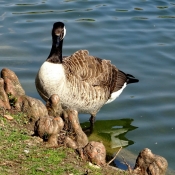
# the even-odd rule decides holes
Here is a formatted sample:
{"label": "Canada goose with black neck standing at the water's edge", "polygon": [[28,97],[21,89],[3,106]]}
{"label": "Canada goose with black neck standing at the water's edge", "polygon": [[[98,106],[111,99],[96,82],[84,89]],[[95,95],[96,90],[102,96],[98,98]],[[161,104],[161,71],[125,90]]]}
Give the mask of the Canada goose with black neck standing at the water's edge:
{"label": "Canada goose with black neck standing at the water's edge", "polygon": [[115,100],[127,84],[139,80],[117,69],[109,60],[90,56],[87,50],[63,58],[65,34],[64,23],[53,24],[52,48],[38,71],[36,88],[45,101],[58,94],[63,109],[91,114],[93,124],[103,105]]}

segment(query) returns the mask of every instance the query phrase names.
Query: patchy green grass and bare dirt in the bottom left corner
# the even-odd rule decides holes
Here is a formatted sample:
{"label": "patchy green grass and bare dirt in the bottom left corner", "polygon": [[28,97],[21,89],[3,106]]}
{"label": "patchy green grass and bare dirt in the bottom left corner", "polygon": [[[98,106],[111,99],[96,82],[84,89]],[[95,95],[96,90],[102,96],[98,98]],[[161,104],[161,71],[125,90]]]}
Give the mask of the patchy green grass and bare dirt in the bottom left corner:
{"label": "patchy green grass and bare dirt in the bottom left corner", "polygon": [[8,121],[0,115],[1,175],[122,175],[113,169],[94,168],[65,147],[48,148],[39,137],[33,137],[24,114]]}

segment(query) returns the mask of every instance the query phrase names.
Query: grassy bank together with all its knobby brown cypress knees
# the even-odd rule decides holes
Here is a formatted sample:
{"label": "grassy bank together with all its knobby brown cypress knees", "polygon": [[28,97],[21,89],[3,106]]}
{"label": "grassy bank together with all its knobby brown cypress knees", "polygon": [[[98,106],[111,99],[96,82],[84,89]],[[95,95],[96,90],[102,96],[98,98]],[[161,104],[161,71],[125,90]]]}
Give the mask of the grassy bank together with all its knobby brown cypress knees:
{"label": "grassy bank together with all its knobby brown cypress knees", "polygon": [[113,167],[113,159],[106,161],[103,143],[88,140],[76,111],[63,110],[56,94],[46,105],[25,95],[18,77],[7,68],[1,71],[0,109],[2,175],[166,173],[166,159],[148,148],[140,152],[134,169],[125,160],[127,171]]}

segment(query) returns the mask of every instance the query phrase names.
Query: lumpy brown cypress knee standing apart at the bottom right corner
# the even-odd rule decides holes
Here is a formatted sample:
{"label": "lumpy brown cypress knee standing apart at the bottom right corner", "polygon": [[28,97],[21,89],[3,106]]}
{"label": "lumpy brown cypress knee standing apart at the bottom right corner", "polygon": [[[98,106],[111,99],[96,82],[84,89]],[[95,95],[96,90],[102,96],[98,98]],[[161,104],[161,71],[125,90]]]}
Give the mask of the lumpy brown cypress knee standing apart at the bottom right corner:
{"label": "lumpy brown cypress knee standing apart at the bottom right corner", "polygon": [[139,175],[165,175],[167,167],[168,162],[165,158],[145,148],[139,153],[133,172]]}

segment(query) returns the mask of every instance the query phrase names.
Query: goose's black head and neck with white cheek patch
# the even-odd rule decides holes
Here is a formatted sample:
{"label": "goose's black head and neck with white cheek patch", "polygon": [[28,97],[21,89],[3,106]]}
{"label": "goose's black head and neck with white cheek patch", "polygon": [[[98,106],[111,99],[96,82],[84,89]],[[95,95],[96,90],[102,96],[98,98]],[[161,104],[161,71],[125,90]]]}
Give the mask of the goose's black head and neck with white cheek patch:
{"label": "goose's black head and neck with white cheek patch", "polygon": [[66,35],[64,23],[56,22],[52,28],[52,48],[46,61],[52,63],[62,63],[62,46]]}

